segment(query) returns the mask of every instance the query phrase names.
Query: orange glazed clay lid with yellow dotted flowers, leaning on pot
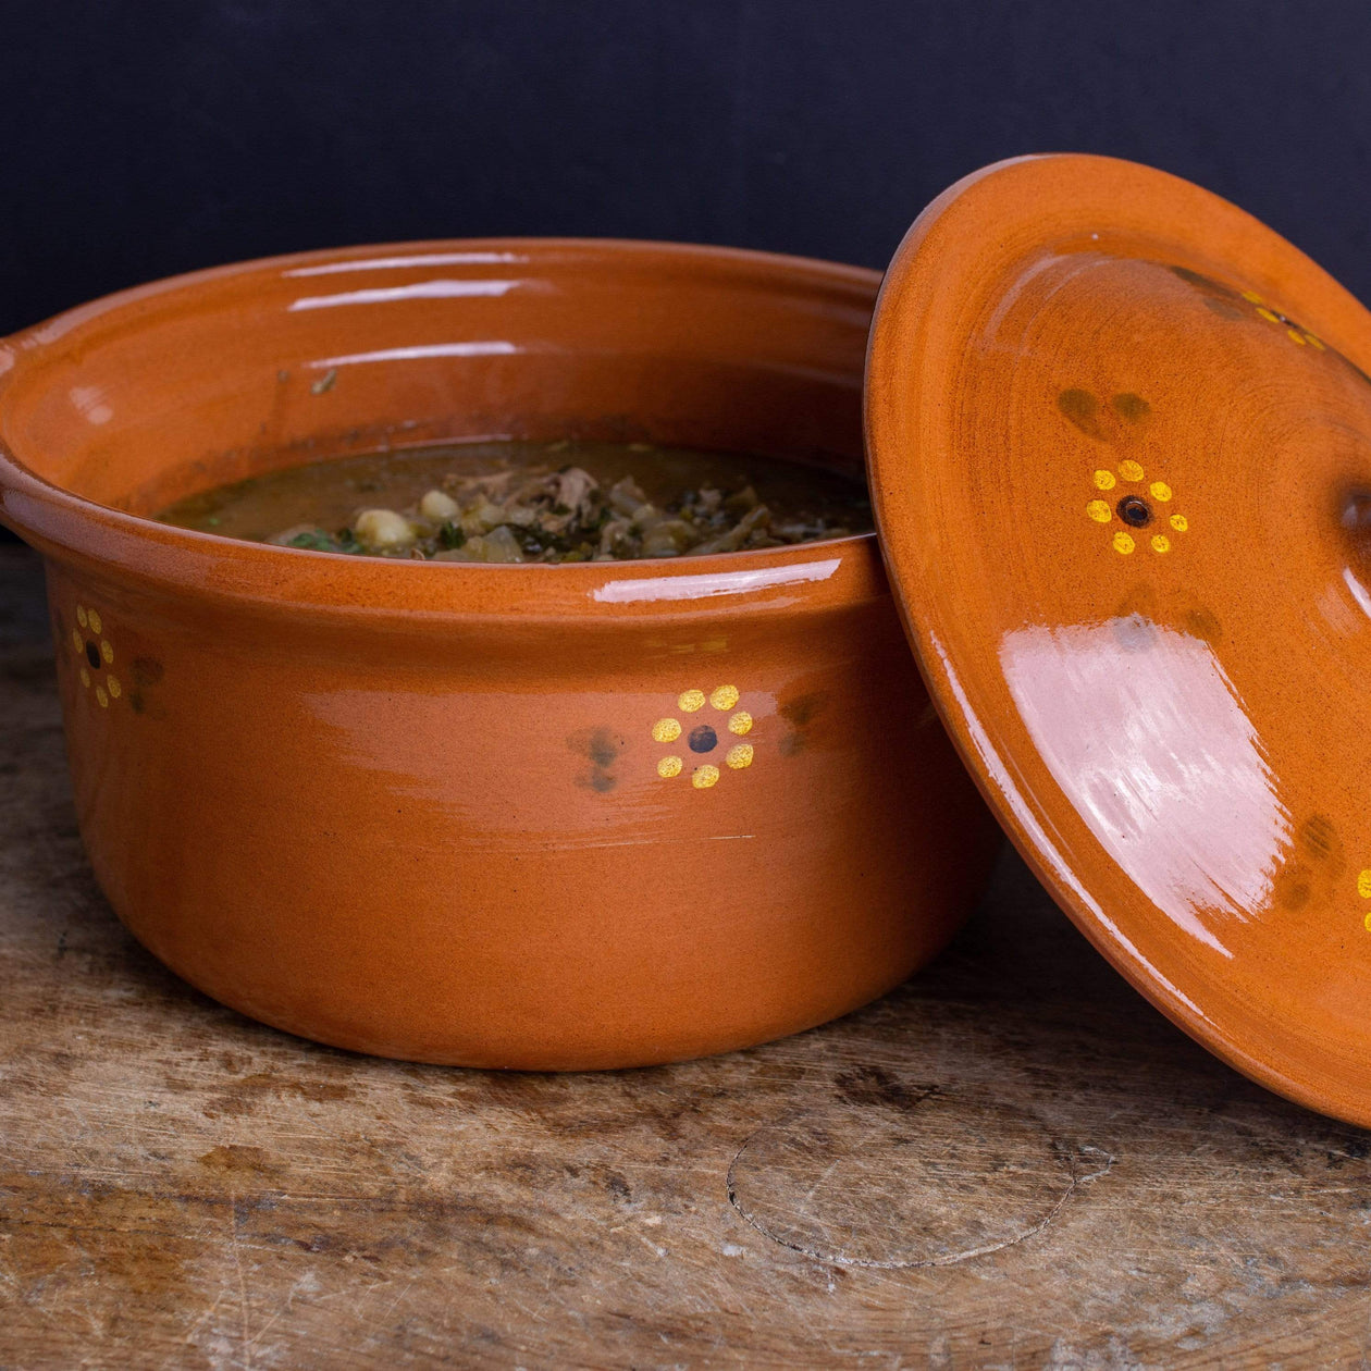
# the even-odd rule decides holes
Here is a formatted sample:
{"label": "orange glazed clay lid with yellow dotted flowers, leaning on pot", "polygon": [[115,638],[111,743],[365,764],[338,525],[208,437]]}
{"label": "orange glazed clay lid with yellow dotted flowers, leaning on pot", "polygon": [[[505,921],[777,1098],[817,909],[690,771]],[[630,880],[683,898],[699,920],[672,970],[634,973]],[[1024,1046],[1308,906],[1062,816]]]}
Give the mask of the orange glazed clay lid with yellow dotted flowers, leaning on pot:
{"label": "orange glazed clay lid with yellow dotted flowers, leaning on pot", "polygon": [[1371,1124],[1371,315],[1160,171],[1001,163],[882,291],[866,437],[943,718],[1076,924]]}

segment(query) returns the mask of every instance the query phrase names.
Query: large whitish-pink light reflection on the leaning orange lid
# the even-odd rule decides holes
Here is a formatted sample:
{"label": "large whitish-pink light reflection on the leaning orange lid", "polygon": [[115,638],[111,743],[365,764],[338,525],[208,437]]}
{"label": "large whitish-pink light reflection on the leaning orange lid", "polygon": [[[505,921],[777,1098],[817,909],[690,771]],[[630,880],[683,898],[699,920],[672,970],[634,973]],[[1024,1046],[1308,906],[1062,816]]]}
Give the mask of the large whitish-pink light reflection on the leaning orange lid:
{"label": "large whitish-pink light reflection on the leaning orange lid", "polygon": [[1231,956],[1222,927],[1270,902],[1290,817],[1209,644],[1134,614],[1017,629],[999,658],[1100,845],[1178,927]]}

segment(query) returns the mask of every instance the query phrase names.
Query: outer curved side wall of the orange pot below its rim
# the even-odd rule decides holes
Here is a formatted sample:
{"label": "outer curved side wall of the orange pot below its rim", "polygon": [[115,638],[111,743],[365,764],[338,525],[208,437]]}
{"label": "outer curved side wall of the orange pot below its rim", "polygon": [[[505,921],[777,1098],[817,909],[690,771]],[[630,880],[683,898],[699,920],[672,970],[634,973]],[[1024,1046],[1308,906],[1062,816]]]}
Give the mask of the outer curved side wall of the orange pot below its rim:
{"label": "outer curved side wall of the orange pot below its rim", "polygon": [[721,1052],[888,990],[980,888],[994,825],[888,602],[548,659],[51,585],[101,887],[292,1032],[536,1069]]}

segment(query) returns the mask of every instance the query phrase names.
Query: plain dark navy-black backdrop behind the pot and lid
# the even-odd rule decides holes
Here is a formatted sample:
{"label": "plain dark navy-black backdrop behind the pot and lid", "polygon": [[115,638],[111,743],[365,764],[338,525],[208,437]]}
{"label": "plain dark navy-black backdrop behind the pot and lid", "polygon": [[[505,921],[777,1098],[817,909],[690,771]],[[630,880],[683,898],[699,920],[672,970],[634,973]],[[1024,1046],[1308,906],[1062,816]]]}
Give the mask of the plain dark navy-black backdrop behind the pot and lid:
{"label": "plain dark navy-black backdrop behind the pot and lid", "polygon": [[1042,149],[1197,180],[1371,296],[1367,0],[0,0],[0,333],[409,237],[880,265]]}

